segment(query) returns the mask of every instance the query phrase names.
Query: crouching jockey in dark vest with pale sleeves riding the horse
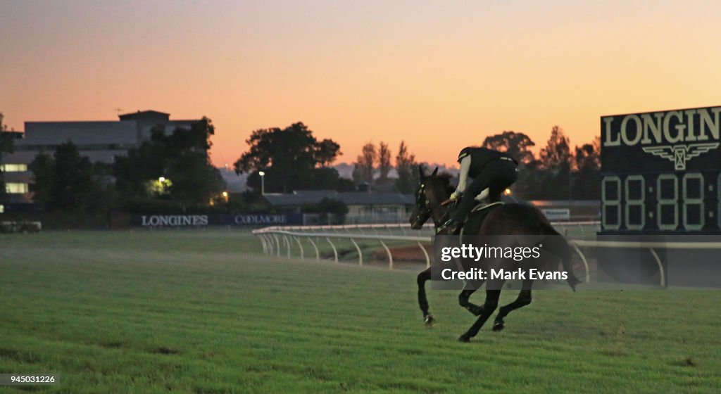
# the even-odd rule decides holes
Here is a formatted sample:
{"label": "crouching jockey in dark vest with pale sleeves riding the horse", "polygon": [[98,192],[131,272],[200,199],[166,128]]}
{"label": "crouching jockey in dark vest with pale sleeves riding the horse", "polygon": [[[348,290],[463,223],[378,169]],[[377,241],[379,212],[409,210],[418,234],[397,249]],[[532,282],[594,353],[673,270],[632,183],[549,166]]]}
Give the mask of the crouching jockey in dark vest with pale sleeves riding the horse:
{"label": "crouching jockey in dark vest with pale sleeves riding the horse", "polygon": [[[490,202],[500,201],[501,193],[518,178],[518,162],[492,149],[464,148],[458,155],[458,162],[461,164],[461,174],[451,200],[457,202],[461,199],[461,203],[451,219],[438,228],[438,233],[456,233],[476,200],[488,196]],[[472,182],[466,187],[469,177]],[[461,198],[464,195],[465,198]]]}

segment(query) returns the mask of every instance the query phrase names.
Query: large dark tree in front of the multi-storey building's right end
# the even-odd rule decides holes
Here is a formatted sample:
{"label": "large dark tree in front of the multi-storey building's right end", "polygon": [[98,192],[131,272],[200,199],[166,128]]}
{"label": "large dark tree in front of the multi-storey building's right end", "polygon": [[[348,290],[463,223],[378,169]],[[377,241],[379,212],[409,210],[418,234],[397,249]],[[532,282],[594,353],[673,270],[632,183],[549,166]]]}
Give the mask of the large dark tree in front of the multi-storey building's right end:
{"label": "large dark tree in front of the multi-storey building's right end", "polygon": [[[149,141],[129,149],[128,156],[115,159],[112,174],[125,202],[153,197],[177,202],[184,210],[208,205],[224,187],[208,156],[213,134],[215,127],[207,117],[189,128],[177,127],[171,134],[162,126],[154,127]],[[161,177],[169,179],[172,187],[166,195],[154,197],[150,193],[152,182]]]}

